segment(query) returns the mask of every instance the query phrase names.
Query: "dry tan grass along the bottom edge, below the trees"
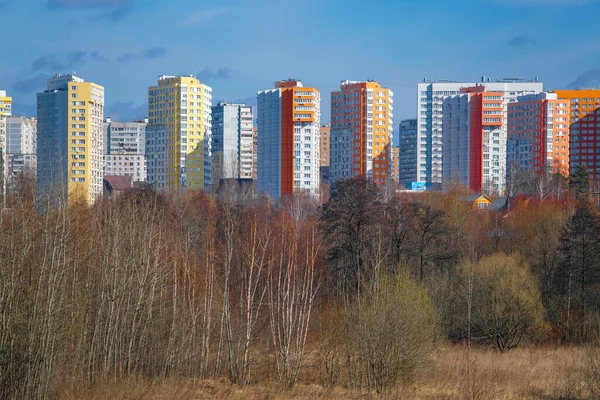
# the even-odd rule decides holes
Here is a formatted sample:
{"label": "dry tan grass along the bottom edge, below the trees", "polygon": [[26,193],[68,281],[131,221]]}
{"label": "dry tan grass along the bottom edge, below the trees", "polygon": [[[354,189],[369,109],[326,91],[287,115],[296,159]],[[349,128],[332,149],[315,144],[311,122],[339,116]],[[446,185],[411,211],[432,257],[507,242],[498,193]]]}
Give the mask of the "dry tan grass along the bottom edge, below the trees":
{"label": "dry tan grass along the bottom edge, below the trees", "polygon": [[[397,399],[542,399],[586,398],[581,392],[585,375],[583,348],[518,348],[505,354],[487,349],[470,352],[463,346],[438,349],[427,370],[421,371],[408,387],[398,387],[387,397]],[[306,377],[320,382],[318,366],[307,365]],[[290,391],[276,383],[264,382],[240,388],[227,380],[151,381],[140,378],[105,382],[93,387],[64,387],[62,399],[375,399],[373,393],[345,387],[300,382]],[[588,397],[589,398],[589,397]]]}

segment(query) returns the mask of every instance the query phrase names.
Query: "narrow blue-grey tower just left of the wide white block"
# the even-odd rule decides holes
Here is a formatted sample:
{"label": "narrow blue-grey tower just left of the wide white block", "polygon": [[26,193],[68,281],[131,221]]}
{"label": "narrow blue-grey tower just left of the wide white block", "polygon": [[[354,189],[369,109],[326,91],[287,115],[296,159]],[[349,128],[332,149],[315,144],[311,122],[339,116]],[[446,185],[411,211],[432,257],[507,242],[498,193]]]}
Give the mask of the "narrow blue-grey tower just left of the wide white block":
{"label": "narrow blue-grey tower just left of the wide white block", "polygon": [[[400,121],[398,130],[398,180],[402,186],[409,182],[417,182],[417,119],[405,119]],[[422,149],[426,151],[427,144],[423,143]]]}

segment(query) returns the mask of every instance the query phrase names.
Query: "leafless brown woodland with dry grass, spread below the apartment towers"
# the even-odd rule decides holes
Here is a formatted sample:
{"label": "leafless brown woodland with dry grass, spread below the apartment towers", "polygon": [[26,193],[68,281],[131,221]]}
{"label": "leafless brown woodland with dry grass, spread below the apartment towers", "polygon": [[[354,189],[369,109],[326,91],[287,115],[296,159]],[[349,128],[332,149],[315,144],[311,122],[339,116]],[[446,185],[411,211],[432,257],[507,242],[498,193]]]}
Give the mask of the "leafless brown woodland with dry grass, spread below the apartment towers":
{"label": "leafless brown woodland with dry grass, spread below the apartment towers", "polygon": [[[321,204],[225,184],[0,218],[0,398],[600,397],[600,213],[353,178]],[[563,190],[561,189],[561,190]]]}

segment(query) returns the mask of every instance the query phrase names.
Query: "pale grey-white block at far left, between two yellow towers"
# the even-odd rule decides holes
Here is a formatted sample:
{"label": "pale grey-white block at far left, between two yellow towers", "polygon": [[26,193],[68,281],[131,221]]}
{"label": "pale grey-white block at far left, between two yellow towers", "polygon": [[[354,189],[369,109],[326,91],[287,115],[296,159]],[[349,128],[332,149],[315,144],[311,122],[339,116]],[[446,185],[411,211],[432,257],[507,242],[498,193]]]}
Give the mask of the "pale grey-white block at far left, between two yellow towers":
{"label": "pale grey-white block at far left, between two yellow towers", "polygon": [[8,182],[21,173],[37,170],[37,121],[35,118],[6,119],[6,173]]}

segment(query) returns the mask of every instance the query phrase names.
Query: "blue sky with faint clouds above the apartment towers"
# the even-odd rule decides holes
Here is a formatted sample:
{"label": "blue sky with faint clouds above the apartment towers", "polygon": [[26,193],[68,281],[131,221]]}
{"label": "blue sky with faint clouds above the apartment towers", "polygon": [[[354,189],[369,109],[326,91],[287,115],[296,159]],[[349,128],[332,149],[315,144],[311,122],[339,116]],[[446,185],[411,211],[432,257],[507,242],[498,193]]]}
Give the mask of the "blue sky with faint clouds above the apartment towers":
{"label": "blue sky with faint clouds above the apartment towers", "polygon": [[0,89],[16,113],[57,72],[106,88],[105,115],[146,115],[161,74],[194,74],[213,102],[255,101],[298,78],[322,95],[375,79],[414,117],[430,79],[538,76],[546,89],[600,86],[600,0],[0,0]]}

